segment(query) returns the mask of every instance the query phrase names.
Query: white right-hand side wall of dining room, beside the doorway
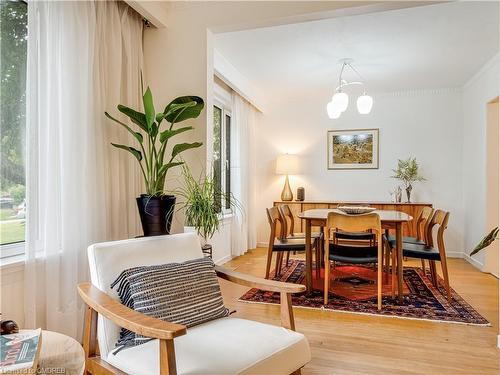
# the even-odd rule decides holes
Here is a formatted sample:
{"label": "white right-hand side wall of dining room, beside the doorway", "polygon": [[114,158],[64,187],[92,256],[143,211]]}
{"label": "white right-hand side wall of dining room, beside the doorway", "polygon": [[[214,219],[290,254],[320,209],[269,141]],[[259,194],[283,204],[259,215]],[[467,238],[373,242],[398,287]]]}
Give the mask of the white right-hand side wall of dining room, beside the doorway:
{"label": "white right-hand side wall of dining room, beside the doorway", "polygon": [[[486,104],[500,94],[500,55],[497,54],[464,87],[463,186],[466,253],[491,229],[486,227]],[[483,267],[484,252],[472,260]]]}

